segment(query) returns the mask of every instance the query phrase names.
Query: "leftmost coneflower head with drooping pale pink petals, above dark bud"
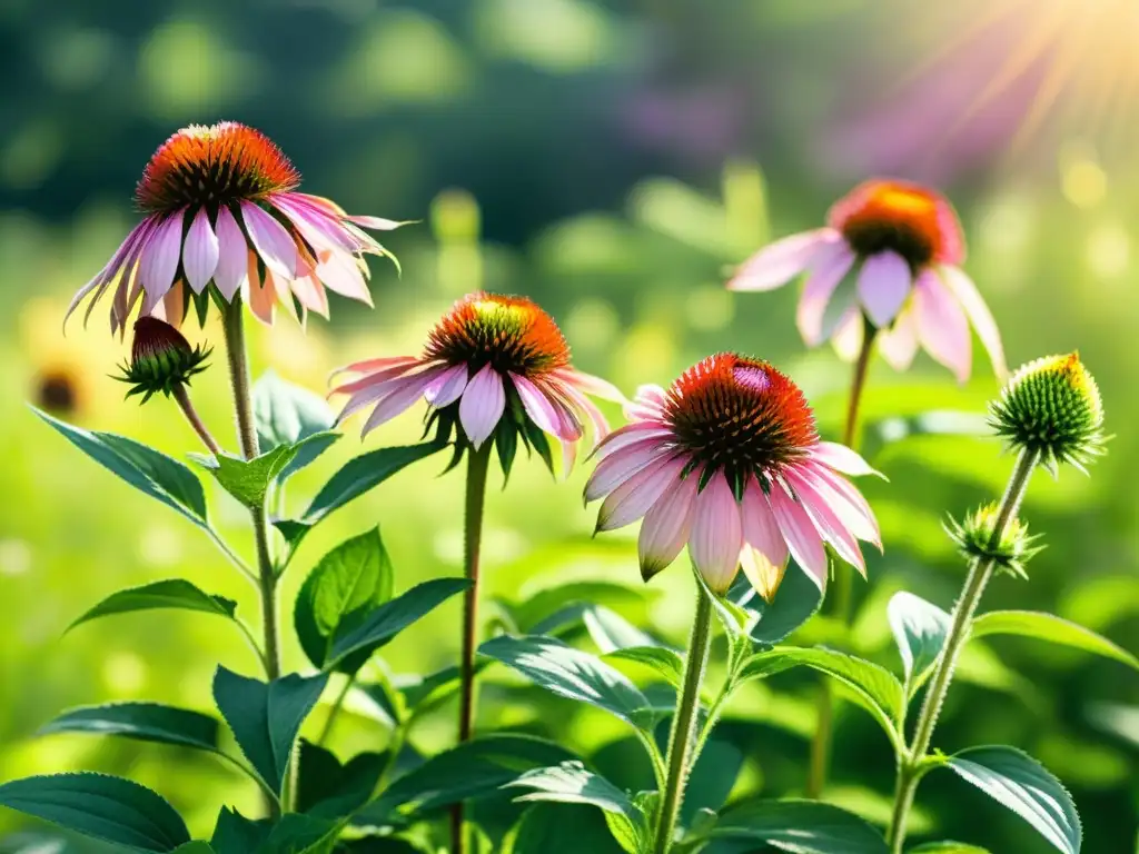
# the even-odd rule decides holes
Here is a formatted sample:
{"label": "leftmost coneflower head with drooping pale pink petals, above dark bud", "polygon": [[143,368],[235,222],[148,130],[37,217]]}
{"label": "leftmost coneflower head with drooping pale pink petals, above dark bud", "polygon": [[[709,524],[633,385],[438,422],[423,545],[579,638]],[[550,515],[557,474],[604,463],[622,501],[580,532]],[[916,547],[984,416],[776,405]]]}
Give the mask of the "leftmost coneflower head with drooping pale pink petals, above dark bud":
{"label": "leftmost coneflower head with drooping pale pink petals, above dark bud", "polygon": [[[272,141],[236,122],[195,124],[155,151],[134,191],[146,214],[99,274],[80,288],[69,317],[91,295],[113,290],[112,331],[140,315],[179,326],[191,293],[211,280],[226,302],[240,294],[272,323],[279,301],[296,315],[328,317],[326,288],[371,304],[362,255],[390,255],[361,228],[390,231],[402,223],[349,216],[319,196],[297,192],[301,173]],[[187,287],[188,286],[188,287]]]}

